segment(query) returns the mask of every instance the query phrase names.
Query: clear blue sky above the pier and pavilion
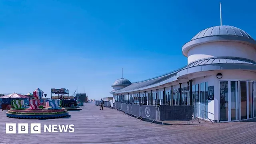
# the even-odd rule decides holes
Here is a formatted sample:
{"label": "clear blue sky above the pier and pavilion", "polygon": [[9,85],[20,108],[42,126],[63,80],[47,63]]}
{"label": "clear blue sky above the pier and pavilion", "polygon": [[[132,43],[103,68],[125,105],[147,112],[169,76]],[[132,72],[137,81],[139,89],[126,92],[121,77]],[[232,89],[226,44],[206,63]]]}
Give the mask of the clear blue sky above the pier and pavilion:
{"label": "clear blue sky above the pier and pavilion", "polygon": [[[183,44],[220,24],[219,2],[0,0],[0,93],[78,87],[98,99],[122,68],[131,82],[170,72],[187,62]],[[256,38],[255,5],[223,1],[223,25]]]}

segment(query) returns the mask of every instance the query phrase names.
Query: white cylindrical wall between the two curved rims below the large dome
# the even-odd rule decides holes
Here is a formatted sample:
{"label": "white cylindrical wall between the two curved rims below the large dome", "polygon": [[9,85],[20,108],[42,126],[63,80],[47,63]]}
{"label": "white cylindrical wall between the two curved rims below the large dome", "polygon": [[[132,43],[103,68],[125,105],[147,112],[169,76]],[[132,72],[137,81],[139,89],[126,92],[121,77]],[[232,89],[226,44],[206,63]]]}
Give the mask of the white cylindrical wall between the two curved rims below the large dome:
{"label": "white cylindrical wall between the two curved rims below the large dome", "polygon": [[188,63],[202,58],[232,56],[256,61],[256,49],[240,42],[209,42],[188,51]]}

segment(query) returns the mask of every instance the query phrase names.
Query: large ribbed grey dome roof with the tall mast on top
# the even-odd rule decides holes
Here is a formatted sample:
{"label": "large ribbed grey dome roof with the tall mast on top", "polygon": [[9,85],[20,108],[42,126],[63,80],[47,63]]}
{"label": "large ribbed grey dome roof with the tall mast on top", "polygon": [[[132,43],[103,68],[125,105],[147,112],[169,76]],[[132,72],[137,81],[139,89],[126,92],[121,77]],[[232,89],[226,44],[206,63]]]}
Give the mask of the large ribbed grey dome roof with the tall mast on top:
{"label": "large ribbed grey dome roof with the tall mast on top", "polygon": [[245,32],[244,30],[241,30],[240,28],[236,28],[234,26],[213,26],[198,32],[198,34],[196,34],[191,40],[195,40],[195,39],[203,38],[207,36],[220,36],[220,35],[243,36],[246,38],[253,39],[247,32]]}

